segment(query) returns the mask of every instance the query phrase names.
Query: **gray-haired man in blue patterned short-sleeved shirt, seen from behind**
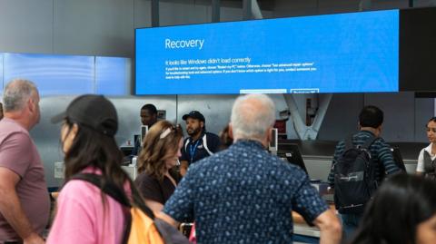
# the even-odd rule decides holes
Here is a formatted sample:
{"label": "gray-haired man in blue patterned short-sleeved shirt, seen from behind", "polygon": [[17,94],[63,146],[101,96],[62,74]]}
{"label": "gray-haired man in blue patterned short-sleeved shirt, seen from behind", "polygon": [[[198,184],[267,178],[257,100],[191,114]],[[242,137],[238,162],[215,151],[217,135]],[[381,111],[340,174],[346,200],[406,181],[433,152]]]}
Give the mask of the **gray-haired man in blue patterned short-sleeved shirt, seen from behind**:
{"label": "gray-haired man in blue patterned short-sleeved shirt, seen from behind", "polygon": [[158,217],[194,219],[199,243],[292,243],[293,210],[321,229],[321,243],[339,243],[339,220],[305,172],[265,150],[274,118],[268,96],[236,99],[233,145],[193,164]]}

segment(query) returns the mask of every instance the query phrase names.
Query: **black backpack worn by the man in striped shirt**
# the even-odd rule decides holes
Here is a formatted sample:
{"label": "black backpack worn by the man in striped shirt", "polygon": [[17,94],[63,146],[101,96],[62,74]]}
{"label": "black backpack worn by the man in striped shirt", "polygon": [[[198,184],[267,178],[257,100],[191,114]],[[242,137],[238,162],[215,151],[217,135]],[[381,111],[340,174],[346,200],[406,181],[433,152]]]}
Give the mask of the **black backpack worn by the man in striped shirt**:
{"label": "black backpack worn by the man in striped shirt", "polygon": [[376,138],[371,136],[362,146],[345,140],[345,149],[333,165],[334,204],[339,213],[361,214],[377,190],[375,165],[369,150]]}

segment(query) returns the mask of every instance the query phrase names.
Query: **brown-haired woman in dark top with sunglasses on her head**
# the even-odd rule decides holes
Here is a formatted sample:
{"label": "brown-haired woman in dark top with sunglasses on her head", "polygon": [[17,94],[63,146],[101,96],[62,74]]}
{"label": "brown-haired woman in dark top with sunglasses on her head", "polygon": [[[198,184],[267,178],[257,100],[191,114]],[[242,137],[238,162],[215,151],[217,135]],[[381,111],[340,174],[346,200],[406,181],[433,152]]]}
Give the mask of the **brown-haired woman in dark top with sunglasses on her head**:
{"label": "brown-haired woman in dark top with sunglasses on her head", "polygon": [[143,194],[145,204],[154,212],[163,209],[181,179],[174,167],[182,147],[182,128],[171,122],[156,122],[145,136],[138,157],[139,175],[134,183]]}

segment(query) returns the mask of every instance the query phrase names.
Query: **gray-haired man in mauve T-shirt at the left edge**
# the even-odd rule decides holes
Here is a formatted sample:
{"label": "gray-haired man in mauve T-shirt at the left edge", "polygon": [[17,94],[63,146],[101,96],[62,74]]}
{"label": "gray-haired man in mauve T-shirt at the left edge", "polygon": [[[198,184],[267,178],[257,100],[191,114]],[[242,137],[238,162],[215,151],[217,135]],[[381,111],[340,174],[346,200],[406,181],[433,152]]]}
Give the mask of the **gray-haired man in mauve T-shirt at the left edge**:
{"label": "gray-haired man in mauve T-shirt at the left edge", "polygon": [[26,80],[8,83],[0,121],[0,243],[45,243],[50,200],[29,131],[39,122],[39,94]]}

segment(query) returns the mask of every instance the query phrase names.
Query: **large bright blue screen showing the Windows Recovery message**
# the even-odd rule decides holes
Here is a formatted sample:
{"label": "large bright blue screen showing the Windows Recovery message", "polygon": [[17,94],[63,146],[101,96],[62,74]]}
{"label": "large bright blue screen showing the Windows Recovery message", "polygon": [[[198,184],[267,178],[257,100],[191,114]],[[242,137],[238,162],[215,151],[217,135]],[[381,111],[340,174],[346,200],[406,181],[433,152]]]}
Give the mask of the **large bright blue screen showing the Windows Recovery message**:
{"label": "large bright blue screen showing the Windows Recovery message", "polygon": [[136,94],[398,92],[399,11],[136,29]]}

